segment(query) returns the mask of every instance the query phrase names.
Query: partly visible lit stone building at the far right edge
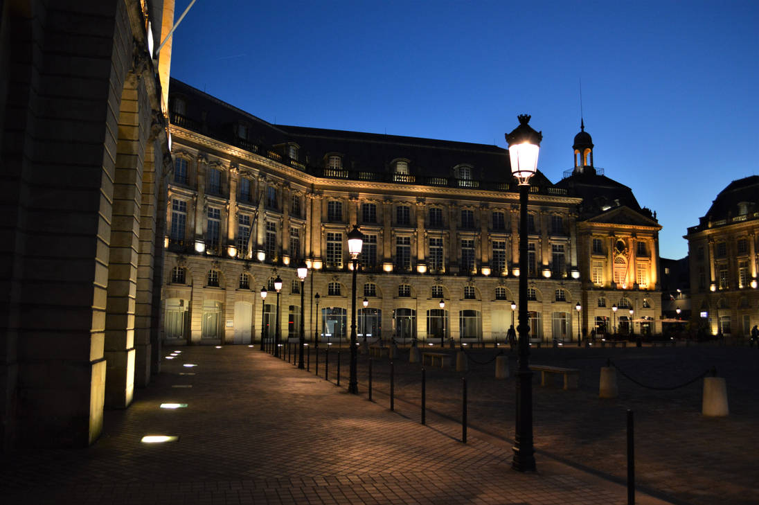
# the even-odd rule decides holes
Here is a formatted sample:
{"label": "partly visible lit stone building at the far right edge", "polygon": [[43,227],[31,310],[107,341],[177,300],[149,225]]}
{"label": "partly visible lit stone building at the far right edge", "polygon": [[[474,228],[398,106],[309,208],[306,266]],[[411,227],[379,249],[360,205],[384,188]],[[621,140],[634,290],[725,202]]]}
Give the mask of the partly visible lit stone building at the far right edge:
{"label": "partly visible lit stone building at the far right edge", "polygon": [[688,228],[691,326],[748,336],[759,324],[759,175],[732,181]]}

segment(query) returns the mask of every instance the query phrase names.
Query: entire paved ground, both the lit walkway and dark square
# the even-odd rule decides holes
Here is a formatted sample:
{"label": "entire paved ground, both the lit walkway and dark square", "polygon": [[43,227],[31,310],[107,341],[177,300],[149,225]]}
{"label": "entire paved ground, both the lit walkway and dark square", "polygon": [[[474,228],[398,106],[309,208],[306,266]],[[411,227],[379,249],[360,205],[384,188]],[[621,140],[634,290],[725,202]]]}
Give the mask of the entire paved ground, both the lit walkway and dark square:
{"label": "entire paved ground, both the lit walkway and dark square", "polygon": [[[165,355],[174,349],[165,349]],[[510,469],[514,378],[496,380],[496,352],[469,351],[469,371],[427,367],[427,425],[420,370],[408,349],[394,360],[359,356],[359,396],[346,392],[348,351],[329,352],[329,381],[257,347],[191,346],[126,410],[106,413],[103,436],[82,450],[4,456],[5,503],[627,503],[625,412],[635,412],[636,503],[759,503],[759,351],[690,346],[533,349],[531,361],[579,368],[579,390],[534,382],[537,472]],[[437,349],[439,350],[439,348]],[[449,350],[449,352],[453,352]],[[650,390],[619,377],[619,398],[599,399],[611,358],[639,382],[675,386],[715,366],[730,415],[701,415],[701,380]],[[197,365],[186,367],[184,365]],[[461,377],[468,382],[468,440],[461,443]],[[187,404],[161,409],[163,402]],[[44,413],[41,413],[44,415]],[[140,443],[145,435],[178,440]]]}

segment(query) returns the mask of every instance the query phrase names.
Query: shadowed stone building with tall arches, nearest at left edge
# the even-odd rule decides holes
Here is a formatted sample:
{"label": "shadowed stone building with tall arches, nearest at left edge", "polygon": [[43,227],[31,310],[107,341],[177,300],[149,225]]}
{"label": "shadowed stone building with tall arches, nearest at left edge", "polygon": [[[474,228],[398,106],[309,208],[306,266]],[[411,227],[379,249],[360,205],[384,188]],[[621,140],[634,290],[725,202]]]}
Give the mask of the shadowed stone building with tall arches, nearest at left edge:
{"label": "shadowed stone building with tall arches, nearest at left edge", "polygon": [[92,443],[156,371],[173,8],[0,2],[4,450]]}

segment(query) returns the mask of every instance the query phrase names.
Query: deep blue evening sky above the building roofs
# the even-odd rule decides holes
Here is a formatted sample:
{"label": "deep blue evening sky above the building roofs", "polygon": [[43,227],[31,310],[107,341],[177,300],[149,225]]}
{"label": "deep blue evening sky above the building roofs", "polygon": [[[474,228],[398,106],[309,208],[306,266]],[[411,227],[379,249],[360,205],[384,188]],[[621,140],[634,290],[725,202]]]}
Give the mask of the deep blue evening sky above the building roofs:
{"label": "deep blue evening sky above the building roofs", "polygon": [[757,27],[755,0],[197,0],[172,76],[281,125],[505,147],[529,113],[554,182],[581,83],[595,165],[657,211],[678,258],[716,194],[759,173]]}

